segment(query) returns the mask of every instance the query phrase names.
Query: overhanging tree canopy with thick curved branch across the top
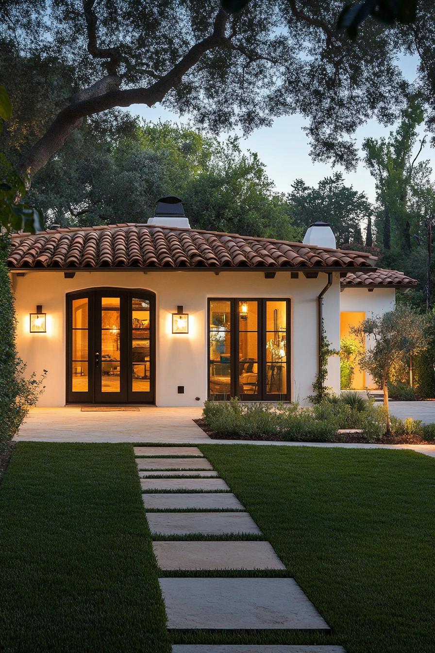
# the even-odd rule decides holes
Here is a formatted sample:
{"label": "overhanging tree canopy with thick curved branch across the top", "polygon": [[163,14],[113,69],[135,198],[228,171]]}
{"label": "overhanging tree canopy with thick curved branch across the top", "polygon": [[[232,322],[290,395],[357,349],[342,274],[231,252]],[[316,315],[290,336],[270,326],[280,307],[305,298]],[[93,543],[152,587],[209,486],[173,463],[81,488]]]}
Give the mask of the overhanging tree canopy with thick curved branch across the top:
{"label": "overhanging tree canopy with thick curved branch across the top", "polygon": [[[351,41],[336,28],[342,8],[342,0],[252,0],[235,14],[209,0],[2,3],[3,81],[13,103],[24,93],[27,101],[17,116],[18,170],[35,174],[87,116],[157,103],[215,132],[299,112],[313,155],[350,167],[355,129],[373,116],[395,118],[408,92],[398,50],[418,50],[435,10],[421,3],[415,38],[370,19]],[[425,60],[419,82],[428,99],[431,67]]]}

